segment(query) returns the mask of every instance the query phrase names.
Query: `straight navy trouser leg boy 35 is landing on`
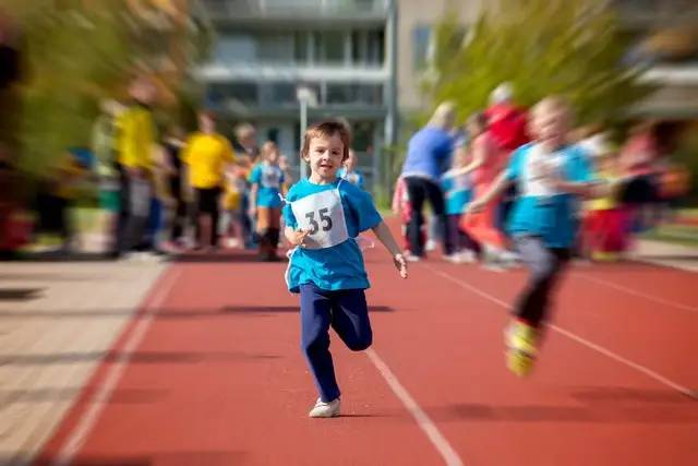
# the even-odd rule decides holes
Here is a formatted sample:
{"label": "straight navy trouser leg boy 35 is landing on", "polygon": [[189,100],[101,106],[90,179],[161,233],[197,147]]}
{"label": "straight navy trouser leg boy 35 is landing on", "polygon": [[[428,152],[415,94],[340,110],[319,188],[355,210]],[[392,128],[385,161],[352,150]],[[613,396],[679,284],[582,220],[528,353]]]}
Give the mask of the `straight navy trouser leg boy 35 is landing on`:
{"label": "straight navy trouser leg boy 35 is landing on", "polygon": [[301,347],[315,378],[320,398],[329,403],[340,393],[329,354],[332,299],[327,295],[328,291],[313,284],[301,285]]}

